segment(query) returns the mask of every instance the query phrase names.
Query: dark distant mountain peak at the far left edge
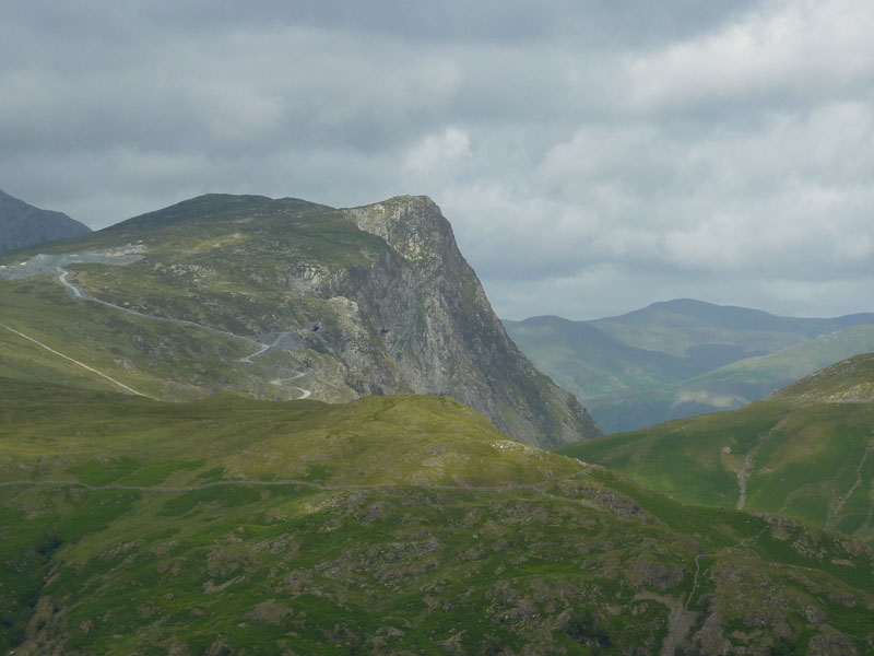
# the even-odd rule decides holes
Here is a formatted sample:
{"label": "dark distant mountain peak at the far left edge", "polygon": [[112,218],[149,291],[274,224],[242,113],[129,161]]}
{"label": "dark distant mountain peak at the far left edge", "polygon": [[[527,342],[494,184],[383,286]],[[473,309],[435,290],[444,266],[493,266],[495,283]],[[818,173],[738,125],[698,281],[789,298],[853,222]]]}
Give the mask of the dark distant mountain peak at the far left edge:
{"label": "dark distant mountain peak at the far left edge", "polygon": [[61,212],[40,210],[0,190],[0,250],[36,246],[91,232]]}

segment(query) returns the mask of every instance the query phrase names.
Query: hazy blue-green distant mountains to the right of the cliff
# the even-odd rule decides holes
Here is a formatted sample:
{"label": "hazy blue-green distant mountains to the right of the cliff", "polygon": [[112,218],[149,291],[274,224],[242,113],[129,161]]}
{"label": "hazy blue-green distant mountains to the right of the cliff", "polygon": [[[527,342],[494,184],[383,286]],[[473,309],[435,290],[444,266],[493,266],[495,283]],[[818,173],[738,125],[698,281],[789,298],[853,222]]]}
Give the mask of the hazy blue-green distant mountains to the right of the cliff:
{"label": "hazy blue-green distant mountains to the right of the cliff", "polygon": [[607,433],[739,408],[874,350],[874,314],[780,317],[692,300],[592,321],[533,317],[505,326]]}

